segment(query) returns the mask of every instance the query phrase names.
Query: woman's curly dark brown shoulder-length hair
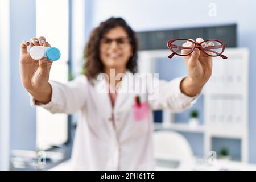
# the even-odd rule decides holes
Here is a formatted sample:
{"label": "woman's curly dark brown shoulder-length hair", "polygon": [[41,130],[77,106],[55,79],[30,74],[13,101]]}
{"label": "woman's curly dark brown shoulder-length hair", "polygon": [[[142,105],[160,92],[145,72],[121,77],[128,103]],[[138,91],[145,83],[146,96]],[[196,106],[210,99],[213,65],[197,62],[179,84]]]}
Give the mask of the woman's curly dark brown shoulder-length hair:
{"label": "woman's curly dark brown shoulder-length hair", "polygon": [[94,28],[84,48],[84,72],[89,80],[94,78],[98,73],[102,73],[104,70],[104,64],[100,59],[100,40],[104,37],[106,32],[115,27],[122,27],[130,39],[132,55],[126,64],[126,69],[129,69],[132,73],[137,72],[138,42],[135,32],[122,18],[112,17],[105,22],[101,22],[100,26]]}

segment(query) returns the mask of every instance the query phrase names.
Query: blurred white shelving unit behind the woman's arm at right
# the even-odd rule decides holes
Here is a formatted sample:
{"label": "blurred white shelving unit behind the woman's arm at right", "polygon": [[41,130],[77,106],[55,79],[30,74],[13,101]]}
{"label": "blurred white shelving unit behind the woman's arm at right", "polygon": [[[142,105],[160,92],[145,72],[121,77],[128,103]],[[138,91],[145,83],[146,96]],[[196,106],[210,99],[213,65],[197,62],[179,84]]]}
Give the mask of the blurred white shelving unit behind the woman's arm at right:
{"label": "blurred white shelving unit behind the woman's arm at right", "polygon": [[[139,65],[141,72],[156,72],[158,59],[165,58],[166,54],[166,50],[140,52]],[[203,117],[201,120],[203,120],[203,123],[195,127],[191,127],[188,123],[175,123],[175,113],[163,110],[163,123],[169,123],[169,125],[164,126],[163,123],[155,123],[154,129],[203,134],[203,153],[205,157],[208,157],[209,151],[212,151],[212,138],[239,139],[241,140],[241,161],[248,162],[249,51],[247,48],[226,48],[225,55],[229,57],[228,60],[223,61],[221,57],[214,58],[212,77],[201,92],[203,107],[199,107],[199,109],[202,109]],[[241,122],[229,122],[230,115],[236,118],[239,117]],[[211,118],[212,116],[214,116],[214,120]],[[216,118],[220,119],[217,121]],[[230,142],[228,141],[228,143]],[[194,141],[191,141],[191,144],[193,145]],[[226,144],[224,143],[224,145]]]}

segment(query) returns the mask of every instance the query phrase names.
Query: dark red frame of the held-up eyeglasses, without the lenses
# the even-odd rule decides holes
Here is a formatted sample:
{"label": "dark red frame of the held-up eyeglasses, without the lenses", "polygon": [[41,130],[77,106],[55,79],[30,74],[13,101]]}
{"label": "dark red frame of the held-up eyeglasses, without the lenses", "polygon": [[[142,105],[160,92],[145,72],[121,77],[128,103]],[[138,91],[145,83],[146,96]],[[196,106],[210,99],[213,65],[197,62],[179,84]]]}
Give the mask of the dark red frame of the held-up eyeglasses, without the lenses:
{"label": "dark red frame of the held-up eyeglasses, without the lenses", "polygon": [[[172,49],[171,43],[172,43],[172,42],[175,42],[175,41],[177,41],[177,40],[186,40],[186,41],[189,41],[189,42],[194,43],[194,47],[192,48],[192,51],[191,51],[190,53],[186,54],[186,55],[180,55],[179,53],[176,53],[176,52]],[[214,55],[214,56],[213,56],[213,55],[209,55],[209,54],[205,51],[205,48],[206,48],[206,47],[202,47],[202,45],[201,45],[202,43],[204,43],[204,42],[209,42],[209,41],[219,42],[219,43],[221,44],[221,46],[222,46],[222,51],[221,51],[221,53],[218,53],[218,55]],[[174,44],[173,44],[173,45],[174,45]],[[222,42],[221,40],[217,40],[217,39],[204,40],[203,42],[195,42],[195,41],[189,40],[189,39],[171,39],[171,40],[169,40],[169,41],[167,42],[167,46],[168,46],[168,48],[172,51],[172,54],[168,56],[168,58],[170,58],[170,59],[171,59],[174,55],[178,55],[178,56],[188,56],[188,55],[191,55],[191,53],[194,51],[195,48],[198,48],[199,50],[204,51],[205,54],[207,54],[208,56],[211,56],[211,57],[220,56],[222,59],[227,59],[227,58],[228,58],[228,57],[222,55],[222,53],[224,52],[224,50],[225,50],[225,48],[226,48],[225,43]],[[220,46],[220,45],[219,45],[219,46]],[[208,47],[208,48],[209,48],[209,47]]]}

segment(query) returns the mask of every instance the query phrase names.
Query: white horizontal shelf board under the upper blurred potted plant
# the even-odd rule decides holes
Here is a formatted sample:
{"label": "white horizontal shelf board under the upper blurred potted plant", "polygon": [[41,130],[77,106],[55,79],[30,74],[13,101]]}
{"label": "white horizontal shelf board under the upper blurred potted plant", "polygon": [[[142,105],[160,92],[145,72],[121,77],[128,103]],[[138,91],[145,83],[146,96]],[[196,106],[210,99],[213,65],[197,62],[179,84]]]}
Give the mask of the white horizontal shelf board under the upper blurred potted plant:
{"label": "white horizontal shelf board under the upper blurred potted plant", "polygon": [[165,126],[162,123],[155,123],[154,129],[155,130],[175,130],[175,131],[189,132],[189,133],[204,133],[203,125],[192,127],[192,126],[189,126],[188,124],[173,123],[168,126]]}

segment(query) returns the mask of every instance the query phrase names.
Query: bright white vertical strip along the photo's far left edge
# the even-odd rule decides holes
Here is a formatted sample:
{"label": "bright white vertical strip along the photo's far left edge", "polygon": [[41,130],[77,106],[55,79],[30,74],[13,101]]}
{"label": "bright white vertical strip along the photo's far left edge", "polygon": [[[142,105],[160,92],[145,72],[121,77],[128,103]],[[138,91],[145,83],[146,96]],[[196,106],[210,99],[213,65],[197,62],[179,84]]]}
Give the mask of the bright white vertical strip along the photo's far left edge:
{"label": "bright white vertical strip along the photo's far left edge", "polygon": [[10,2],[0,0],[0,170],[9,167],[10,152]]}

